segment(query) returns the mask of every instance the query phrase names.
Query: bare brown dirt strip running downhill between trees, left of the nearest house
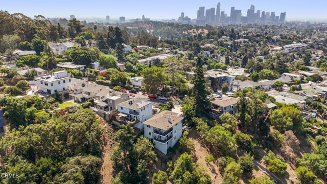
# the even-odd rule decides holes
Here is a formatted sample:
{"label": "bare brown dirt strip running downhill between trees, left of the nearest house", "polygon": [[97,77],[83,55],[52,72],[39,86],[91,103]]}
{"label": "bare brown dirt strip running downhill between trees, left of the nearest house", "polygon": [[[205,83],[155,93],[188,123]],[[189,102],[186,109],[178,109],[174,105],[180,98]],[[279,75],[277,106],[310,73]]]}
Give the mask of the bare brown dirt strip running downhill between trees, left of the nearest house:
{"label": "bare brown dirt strip running downhill between trees, left of the nearest house", "polygon": [[113,178],[112,176],[112,163],[109,157],[111,148],[113,146],[113,132],[114,130],[112,129],[111,125],[108,123],[101,121],[100,124],[104,131],[102,135],[103,139],[103,146],[102,146],[102,167],[100,171],[100,179],[98,183],[104,183],[104,184],[109,184],[111,183],[111,179]]}

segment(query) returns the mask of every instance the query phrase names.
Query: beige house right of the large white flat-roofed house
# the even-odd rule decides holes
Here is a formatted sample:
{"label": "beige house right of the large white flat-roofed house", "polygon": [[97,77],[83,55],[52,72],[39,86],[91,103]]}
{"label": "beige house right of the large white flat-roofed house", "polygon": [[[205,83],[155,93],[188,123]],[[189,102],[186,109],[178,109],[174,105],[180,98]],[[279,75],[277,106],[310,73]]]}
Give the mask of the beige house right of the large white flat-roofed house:
{"label": "beige house right of the large white flat-roofed house", "polygon": [[106,88],[108,87],[99,84],[80,82],[72,86],[73,93],[69,94],[69,96],[71,99],[74,99],[75,102],[87,102],[95,98],[98,93]]}

